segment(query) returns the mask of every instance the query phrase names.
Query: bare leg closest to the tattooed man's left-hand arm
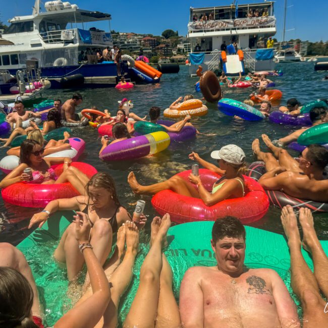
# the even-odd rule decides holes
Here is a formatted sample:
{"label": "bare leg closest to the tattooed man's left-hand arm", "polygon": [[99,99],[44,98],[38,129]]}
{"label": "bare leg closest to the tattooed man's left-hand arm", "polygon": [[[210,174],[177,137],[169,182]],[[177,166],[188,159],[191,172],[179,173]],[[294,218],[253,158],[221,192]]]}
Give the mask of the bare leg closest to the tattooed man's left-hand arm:
{"label": "bare leg closest to the tattooed man's left-hand arm", "polygon": [[171,266],[162,254],[162,269],[159,277],[159,298],[156,316],[156,328],[180,327],[181,319],[177,301],[172,291],[173,274]]}

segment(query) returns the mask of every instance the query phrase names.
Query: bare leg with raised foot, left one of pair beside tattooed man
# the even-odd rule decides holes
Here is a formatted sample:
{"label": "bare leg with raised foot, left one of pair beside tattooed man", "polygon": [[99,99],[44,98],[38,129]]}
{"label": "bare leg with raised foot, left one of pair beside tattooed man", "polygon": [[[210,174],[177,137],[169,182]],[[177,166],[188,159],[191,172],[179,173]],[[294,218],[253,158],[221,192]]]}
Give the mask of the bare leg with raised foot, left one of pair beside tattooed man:
{"label": "bare leg with raised foot, left one of pair beside tattooed man", "polygon": [[[154,327],[162,269],[162,245],[171,226],[170,215],[156,216],[151,223],[151,247],[140,269],[140,283],[124,327]],[[156,235],[156,236],[153,236]]]}

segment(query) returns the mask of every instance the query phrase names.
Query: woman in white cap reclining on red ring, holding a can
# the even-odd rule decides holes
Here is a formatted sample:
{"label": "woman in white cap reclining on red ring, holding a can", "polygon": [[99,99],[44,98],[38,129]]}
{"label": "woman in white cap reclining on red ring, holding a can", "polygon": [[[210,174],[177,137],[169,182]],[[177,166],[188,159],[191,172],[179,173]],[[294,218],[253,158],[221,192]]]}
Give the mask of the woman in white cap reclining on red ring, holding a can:
{"label": "woman in white cap reclining on red ring, holding a can", "polygon": [[[242,174],[247,170],[244,151],[236,145],[227,145],[220,150],[212,151],[211,157],[217,160],[220,168],[201,159],[197,153],[189,155],[190,159],[198,161],[206,169],[224,175],[214,183],[211,192],[206,190],[200,176],[193,174],[189,175],[189,183],[179,176],[173,176],[164,182],[142,186],[138,183],[134,173],[130,172],[128,183],[136,194],[153,195],[159,191],[170,189],[180,195],[200,198],[206,206],[212,206],[228,198],[244,197],[246,187]],[[197,189],[193,184],[197,186]]]}

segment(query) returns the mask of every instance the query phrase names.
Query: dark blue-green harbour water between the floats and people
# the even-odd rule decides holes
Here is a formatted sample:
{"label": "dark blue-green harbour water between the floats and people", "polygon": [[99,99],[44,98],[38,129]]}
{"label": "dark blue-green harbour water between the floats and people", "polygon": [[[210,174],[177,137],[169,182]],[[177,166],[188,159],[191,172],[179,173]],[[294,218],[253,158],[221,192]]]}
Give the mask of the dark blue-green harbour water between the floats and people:
{"label": "dark blue-green harbour water between the floats and people", "polygon": [[[277,65],[277,69],[282,69],[282,77],[272,78],[276,82],[276,87],[283,91],[282,103],[287,99],[297,97],[299,101],[306,102],[316,98],[328,97],[328,81],[321,81],[323,73],[313,70],[313,63],[290,63]],[[99,110],[108,108],[112,116],[116,114],[118,100],[127,97],[134,103],[133,112],[139,116],[146,115],[152,105],[157,105],[163,109],[167,108],[179,96],[192,93],[195,97],[201,98],[200,93],[195,93],[194,83],[197,78],[188,75],[188,68],[180,67],[179,74],[167,74],[161,78],[161,83],[157,85],[137,85],[130,90],[117,90],[115,88],[79,90],[84,101],[82,108],[90,108],[95,105]],[[224,96],[243,101],[251,92],[250,89],[223,89]],[[48,90],[45,94],[47,98],[61,98],[66,100],[72,95],[72,90]],[[127,184],[127,176],[130,171],[136,173],[141,184],[151,184],[170,178],[172,175],[190,169],[192,161],[188,159],[191,151],[196,151],[205,160],[211,161],[210,153],[214,149],[234,143],[242,147],[250,163],[256,160],[252,155],[251,143],[254,138],[260,137],[262,133],[274,140],[287,135],[291,127],[271,124],[268,121],[247,122],[237,121],[225,116],[217,110],[215,104],[207,104],[208,114],[200,118],[192,118],[192,123],[198,130],[204,133],[216,133],[213,137],[200,136],[194,140],[170,146],[169,149],[151,158],[139,159],[130,162],[108,163],[101,162],[98,158],[98,151],[101,147],[100,139],[95,129],[83,128],[73,129],[72,136],[81,137],[86,141],[86,151],[80,158],[93,165],[98,171],[110,173],[117,185],[119,198],[130,212],[133,212],[136,197]],[[261,143],[262,149],[265,149]],[[0,158],[6,155],[4,149],[0,149]],[[3,177],[0,177],[3,178]],[[147,201],[145,212],[152,217],[155,214],[150,197],[143,196]],[[31,231],[27,229],[30,217],[36,209],[17,207],[6,204],[0,200],[0,240],[10,242],[14,245],[23,240]],[[315,228],[320,239],[328,239],[328,213],[315,215]],[[267,214],[254,227],[282,233],[283,228],[280,223],[280,209],[270,206]]]}

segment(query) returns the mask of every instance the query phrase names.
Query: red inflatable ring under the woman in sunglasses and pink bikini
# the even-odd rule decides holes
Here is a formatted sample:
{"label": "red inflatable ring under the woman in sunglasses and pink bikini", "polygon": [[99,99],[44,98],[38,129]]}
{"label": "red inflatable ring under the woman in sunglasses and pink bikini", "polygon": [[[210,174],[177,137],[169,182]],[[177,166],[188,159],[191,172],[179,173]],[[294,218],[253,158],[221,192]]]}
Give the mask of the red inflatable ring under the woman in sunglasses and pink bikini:
{"label": "red inflatable ring under the woman in sunglasses and pink bikini", "polygon": [[[88,178],[97,173],[97,170],[87,163],[73,162],[71,166],[79,169]],[[51,168],[57,176],[63,172],[63,164]],[[72,198],[79,195],[69,182],[51,185],[18,182],[4,188],[1,194],[4,201],[25,207],[44,207],[53,199]]]}

